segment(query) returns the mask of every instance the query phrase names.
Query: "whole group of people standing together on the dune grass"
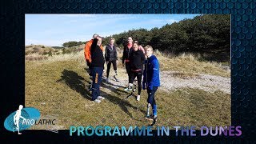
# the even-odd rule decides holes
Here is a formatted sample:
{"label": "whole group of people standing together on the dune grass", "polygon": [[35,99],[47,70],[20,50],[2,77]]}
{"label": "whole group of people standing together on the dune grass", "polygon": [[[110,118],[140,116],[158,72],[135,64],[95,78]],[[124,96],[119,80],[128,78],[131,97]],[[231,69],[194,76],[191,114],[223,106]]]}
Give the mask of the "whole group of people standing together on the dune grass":
{"label": "whole group of people standing together on the dune grass", "polygon": [[[100,84],[102,82],[105,62],[107,65],[106,82],[109,82],[111,65],[114,67],[114,78],[118,81],[115,77],[118,75],[118,53],[116,46],[114,46],[114,38],[110,38],[109,44],[106,45],[105,55],[103,55],[102,38],[98,34],[94,34],[93,38],[86,43],[84,52],[86,63],[90,70],[89,74],[92,79],[92,101],[101,102],[104,97],[100,96]],[[160,78],[159,63],[158,59],[153,55],[152,46],[145,46],[143,48],[137,41],[133,42],[133,38],[127,38],[122,54],[122,66],[126,67],[126,73],[129,79],[128,87],[125,90],[132,91],[134,79],[137,78],[138,95],[136,99],[138,101],[140,100],[142,89],[147,91],[148,110],[146,118],[156,120],[157,105],[154,94],[158,90],[158,86],[160,86]],[[149,114],[150,106],[153,110],[152,115]]]}

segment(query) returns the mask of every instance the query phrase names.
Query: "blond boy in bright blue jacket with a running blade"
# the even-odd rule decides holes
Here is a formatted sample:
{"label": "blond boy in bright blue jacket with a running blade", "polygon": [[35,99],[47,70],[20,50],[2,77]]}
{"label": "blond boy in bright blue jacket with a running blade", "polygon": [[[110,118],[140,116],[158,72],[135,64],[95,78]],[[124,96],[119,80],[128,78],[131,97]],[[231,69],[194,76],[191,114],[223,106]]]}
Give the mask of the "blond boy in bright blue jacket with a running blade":
{"label": "blond boy in bright blue jacket with a running blade", "polygon": [[[153,55],[152,46],[145,47],[145,70],[143,72],[143,82],[142,89],[147,91],[148,98],[148,106],[147,106],[147,115],[146,118],[149,120],[157,119],[157,104],[154,99],[154,94],[158,90],[158,86],[160,86],[160,76],[159,76],[159,62],[158,58]],[[150,106],[152,106],[153,115],[150,116]]]}

